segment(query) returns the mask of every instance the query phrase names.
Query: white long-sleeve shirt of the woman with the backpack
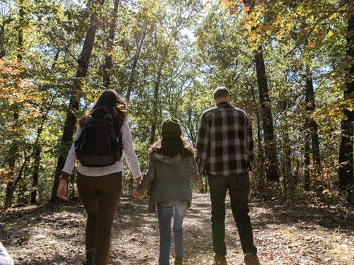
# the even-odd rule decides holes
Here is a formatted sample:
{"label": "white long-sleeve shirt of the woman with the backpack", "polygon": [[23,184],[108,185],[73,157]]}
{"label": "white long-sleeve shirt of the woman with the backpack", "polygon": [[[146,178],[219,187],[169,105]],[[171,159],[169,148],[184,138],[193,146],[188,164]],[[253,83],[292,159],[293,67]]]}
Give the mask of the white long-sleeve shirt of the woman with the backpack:
{"label": "white long-sleeve shirt of the woman with the backpack", "polygon": [[[75,139],[79,139],[81,134],[82,128],[79,126],[76,130]],[[140,172],[139,162],[137,160],[137,155],[134,151],[134,146],[132,143],[132,133],[130,132],[129,125],[125,122],[122,127],[120,128],[120,133],[122,134],[122,143],[123,143],[123,154],[125,159],[127,160],[127,164],[132,172],[132,175],[135,179],[142,177],[142,173]],[[67,160],[65,161],[65,165],[63,167],[63,172],[68,173],[69,175],[72,174],[72,170],[74,169],[76,163],[76,153],[75,153],[75,146],[72,143],[72,148],[67,155]],[[84,167],[83,165],[79,165],[77,171],[80,174],[85,176],[91,177],[99,177],[104,175],[109,175],[115,172],[120,172],[123,170],[122,158],[119,161],[115,162],[113,165],[108,165],[105,167]]]}

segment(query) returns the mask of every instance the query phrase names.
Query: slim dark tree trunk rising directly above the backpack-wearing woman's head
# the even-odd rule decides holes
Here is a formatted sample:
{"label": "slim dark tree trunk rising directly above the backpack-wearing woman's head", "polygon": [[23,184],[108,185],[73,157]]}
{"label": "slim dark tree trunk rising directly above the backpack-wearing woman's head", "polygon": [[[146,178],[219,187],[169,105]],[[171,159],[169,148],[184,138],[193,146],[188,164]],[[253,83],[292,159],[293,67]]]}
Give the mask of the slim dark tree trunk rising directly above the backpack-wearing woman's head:
{"label": "slim dark tree trunk rising directly above the backpack-wearing woman's head", "polygon": [[115,37],[115,28],[117,25],[118,18],[118,7],[119,0],[114,0],[113,6],[113,16],[110,21],[109,33],[107,39],[107,50],[105,51],[105,65],[103,66],[103,86],[105,89],[110,87],[110,71],[112,69],[113,63],[113,45],[114,45],[114,37]]}

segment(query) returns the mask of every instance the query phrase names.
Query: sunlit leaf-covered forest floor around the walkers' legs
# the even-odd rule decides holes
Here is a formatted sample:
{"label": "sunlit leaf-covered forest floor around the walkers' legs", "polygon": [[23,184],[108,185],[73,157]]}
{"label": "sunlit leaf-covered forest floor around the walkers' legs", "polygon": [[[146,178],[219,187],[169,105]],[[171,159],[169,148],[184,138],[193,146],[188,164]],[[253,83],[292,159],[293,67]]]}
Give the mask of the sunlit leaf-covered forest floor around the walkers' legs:
{"label": "sunlit leaf-covered forest floor around the walkers' legs", "polygon": [[[193,197],[184,222],[185,264],[211,264],[209,195]],[[353,211],[254,198],[250,206],[261,264],[354,264]],[[227,260],[239,265],[243,254],[229,202],[227,208]],[[84,225],[79,203],[13,208],[0,213],[0,240],[16,264],[80,264]],[[157,264],[159,230],[147,201],[120,201],[112,237],[110,264]]]}

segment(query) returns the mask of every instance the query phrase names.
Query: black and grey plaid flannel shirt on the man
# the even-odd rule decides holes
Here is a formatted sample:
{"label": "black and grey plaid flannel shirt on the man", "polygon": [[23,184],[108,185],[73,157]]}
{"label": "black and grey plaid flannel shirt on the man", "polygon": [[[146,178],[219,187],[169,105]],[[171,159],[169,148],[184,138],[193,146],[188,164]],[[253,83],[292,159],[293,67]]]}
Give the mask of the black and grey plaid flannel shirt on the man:
{"label": "black and grey plaid flannel shirt on the man", "polygon": [[202,113],[197,137],[199,172],[239,175],[252,170],[253,139],[249,117],[227,102]]}

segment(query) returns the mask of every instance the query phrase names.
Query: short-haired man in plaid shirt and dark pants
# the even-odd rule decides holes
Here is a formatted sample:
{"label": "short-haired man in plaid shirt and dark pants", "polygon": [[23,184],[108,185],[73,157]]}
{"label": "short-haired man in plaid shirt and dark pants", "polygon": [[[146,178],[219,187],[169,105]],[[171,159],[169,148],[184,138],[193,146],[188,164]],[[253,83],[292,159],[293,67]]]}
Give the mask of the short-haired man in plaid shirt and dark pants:
{"label": "short-haired man in plaid shirt and dark pants", "polygon": [[202,113],[197,137],[199,172],[204,172],[210,186],[212,202],[212,244],[215,265],[226,265],[225,199],[227,190],[236,221],[244,261],[257,265],[249,218],[249,182],[253,162],[251,125],[246,113],[230,105],[229,90],[214,91],[215,107]]}

